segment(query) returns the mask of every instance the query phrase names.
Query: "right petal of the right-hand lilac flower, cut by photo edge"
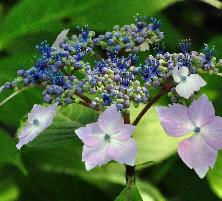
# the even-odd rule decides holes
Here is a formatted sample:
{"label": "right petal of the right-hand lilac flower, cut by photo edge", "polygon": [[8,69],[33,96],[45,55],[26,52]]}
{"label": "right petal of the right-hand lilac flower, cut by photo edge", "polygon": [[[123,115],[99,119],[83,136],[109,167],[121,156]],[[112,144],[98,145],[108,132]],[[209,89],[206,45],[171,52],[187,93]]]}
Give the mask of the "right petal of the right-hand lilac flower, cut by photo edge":
{"label": "right petal of the right-hand lilac flower, cut by photo edge", "polygon": [[222,149],[222,118],[216,117],[210,124],[202,127],[201,134],[210,147]]}

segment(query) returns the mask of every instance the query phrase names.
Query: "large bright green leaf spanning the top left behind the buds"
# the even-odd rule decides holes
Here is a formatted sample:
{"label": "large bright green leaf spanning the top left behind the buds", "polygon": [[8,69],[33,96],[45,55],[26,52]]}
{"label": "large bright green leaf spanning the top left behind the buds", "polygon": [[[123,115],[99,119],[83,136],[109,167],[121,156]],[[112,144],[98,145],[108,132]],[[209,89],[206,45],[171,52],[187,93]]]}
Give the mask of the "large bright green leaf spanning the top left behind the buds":
{"label": "large bright green leaf spanning the top left behind the buds", "polygon": [[89,24],[95,30],[104,31],[115,24],[129,24],[137,13],[152,16],[174,2],[176,0],[23,0],[1,25],[0,49],[27,33],[59,33],[65,28],[62,23],[65,18],[73,20],[72,25]]}

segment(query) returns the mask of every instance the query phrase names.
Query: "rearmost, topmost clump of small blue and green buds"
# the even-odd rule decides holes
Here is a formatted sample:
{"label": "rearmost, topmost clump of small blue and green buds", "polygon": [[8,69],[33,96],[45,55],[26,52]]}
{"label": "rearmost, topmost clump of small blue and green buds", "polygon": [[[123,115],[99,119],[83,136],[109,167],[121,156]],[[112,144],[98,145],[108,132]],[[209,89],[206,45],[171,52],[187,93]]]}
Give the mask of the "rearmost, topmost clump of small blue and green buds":
{"label": "rearmost, topmost clump of small blue and green buds", "polygon": [[150,49],[161,41],[164,37],[163,32],[160,32],[160,21],[151,18],[151,23],[147,23],[146,17],[135,16],[135,24],[118,25],[113,27],[111,32],[106,32],[104,35],[93,39],[95,45],[100,45],[107,51],[120,52],[138,52]]}

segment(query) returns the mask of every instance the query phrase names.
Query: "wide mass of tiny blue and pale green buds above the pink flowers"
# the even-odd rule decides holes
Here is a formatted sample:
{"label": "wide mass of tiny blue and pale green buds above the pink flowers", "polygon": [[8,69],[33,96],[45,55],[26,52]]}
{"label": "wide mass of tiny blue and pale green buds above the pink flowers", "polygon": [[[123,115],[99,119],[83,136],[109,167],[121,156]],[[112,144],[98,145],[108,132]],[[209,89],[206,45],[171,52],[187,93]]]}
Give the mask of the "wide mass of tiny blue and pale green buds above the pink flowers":
{"label": "wide mass of tiny blue and pale green buds above the pink flowers", "polygon": [[[181,53],[162,50],[144,60],[138,59],[140,51],[150,50],[151,45],[160,46],[163,40],[160,21],[154,18],[150,23],[147,21],[146,17],[136,16],[135,24],[121,28],[114,26],[113,31],[99,36],[87,26],[79,28],[79,35],[71,38],[67,37],[68,30],[64,30],[52,47],[46,42],[37,46],[41,57],[32,68],[18,70],[19,77],[5,83],[2,90],[40,85],[44,88],[43,100],[47,103],[71,104],[79,102],[76,94],[84,94],[92,98],[87,103],[91,107],[105,108],[115,104],[119,110],[127,110],[130,103],[135,107],[146,103],[150,90],[173,75],[171,99],[177,101],[177,94],[189,98],[204,86],[202,81],[195,89],[184,88],[186,83],[198,82],[191,77],[197,77],[194,75],[200,70],[217,71],[214,48],[205,45],[203,53],[198,53],[190,50],[189,40],[183,40]],[[104,51],[105,58],[98,56],[101,51]],[[95,56],[94,61],[89,62],[89,54]],[[188,69],[187,74],[175,78],[175,69],[184,68]],[[179,82],[183,84],[176,87]]]}

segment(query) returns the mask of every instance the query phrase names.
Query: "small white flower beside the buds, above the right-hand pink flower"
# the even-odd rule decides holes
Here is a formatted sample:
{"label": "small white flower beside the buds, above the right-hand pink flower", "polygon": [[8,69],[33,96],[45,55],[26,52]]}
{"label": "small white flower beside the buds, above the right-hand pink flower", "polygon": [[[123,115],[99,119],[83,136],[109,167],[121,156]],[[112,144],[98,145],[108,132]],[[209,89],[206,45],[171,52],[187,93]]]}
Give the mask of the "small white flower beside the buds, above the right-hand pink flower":
{"label": "small white flower beside the buds, above the right-hand pink flower", "polygon": [[173,79],[178,83],[176,92],[186,99],[190,98],[195,91],[199,91],[201,87],[207,84],[200,75],[189,75],[189,69],[185,66],[173,69]]}

